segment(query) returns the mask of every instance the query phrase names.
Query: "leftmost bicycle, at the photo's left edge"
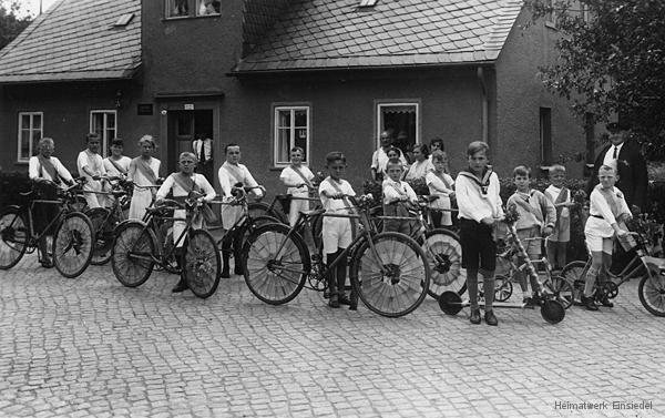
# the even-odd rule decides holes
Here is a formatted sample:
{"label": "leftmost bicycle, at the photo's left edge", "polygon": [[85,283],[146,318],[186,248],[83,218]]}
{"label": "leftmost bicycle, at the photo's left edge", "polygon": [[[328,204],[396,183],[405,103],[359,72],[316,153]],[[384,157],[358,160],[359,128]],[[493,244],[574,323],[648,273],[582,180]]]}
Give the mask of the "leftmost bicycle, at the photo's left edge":
{"label": "leftmost bicycle, at the photo's left edge", "polygon": [[[62,190],[50,181],[42,182],[57,190],[54,198],[41,198],[33,188],[21,193],[30,202],[22,206],[8,206],[0,213],[0,269],[9,269],[17,265],[28,252],[32,254],[39,242],[50,236],[54,227],[53,241],[47,251],[53,254],[55,269],[69,278],[80,276],[92,257],[94,230],[85,214],[73,208],[79,203],[76,192],[83,180]],[[34,205],[57,205],[58,215],[53,216],[41,233],[34,231]]]}

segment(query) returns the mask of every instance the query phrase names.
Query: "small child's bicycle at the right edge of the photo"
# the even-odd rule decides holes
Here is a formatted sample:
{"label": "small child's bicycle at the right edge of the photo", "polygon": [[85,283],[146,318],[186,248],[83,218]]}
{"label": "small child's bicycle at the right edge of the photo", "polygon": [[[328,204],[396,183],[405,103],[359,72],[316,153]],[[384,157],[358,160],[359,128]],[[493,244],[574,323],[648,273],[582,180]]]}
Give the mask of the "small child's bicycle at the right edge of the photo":
{"label": "small child's bicycle at the right edge of the photo", "polygon": [[[635,225],[640,231],[628,233],[635,239],[633,258],[617,275],[607,272],[608,279],[604,285],[601,288],[594,285],[594,295],[598,299],[605,297],[614,299],[618,295],[618,287],[622,284],[633,278],[640,278],[637,285],[640,303],[649,314],[665,317],[665,258],[652,255],[652,245],[644,233],[647,227],[646,221],[637,218]],[[586,262],[571,262],[561,271],[564,279],[573,286],[575,304],[581,304],[586,272],[590,267],[591,257]]]}

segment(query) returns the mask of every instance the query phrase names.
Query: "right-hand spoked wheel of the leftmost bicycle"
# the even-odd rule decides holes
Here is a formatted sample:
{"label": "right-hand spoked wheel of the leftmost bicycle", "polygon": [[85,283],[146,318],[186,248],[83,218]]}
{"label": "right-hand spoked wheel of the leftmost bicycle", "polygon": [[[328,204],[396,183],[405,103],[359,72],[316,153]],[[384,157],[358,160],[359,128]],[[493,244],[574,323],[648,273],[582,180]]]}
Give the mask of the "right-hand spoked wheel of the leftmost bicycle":
{"label": "right-hand spoked wheel of the leftmost bicycle", "polygon": [[84,214],[72,212],[58,225],[53,241],[53,264],[64,277],[78,277],[92,258],[94,230]]}

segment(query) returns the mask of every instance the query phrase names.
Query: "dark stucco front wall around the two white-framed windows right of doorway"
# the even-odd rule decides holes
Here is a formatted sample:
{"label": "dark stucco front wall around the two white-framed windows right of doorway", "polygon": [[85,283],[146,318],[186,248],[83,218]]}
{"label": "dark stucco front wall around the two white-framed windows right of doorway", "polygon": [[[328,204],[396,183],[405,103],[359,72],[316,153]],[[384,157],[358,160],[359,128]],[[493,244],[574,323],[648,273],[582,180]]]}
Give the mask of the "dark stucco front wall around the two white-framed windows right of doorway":
{"label": "dark stucco front wall around the two white-framed windows right of doorway", "polygon": [[[475,69],[410,71],[405,74],[348,74],[346,78],[277,78],[245,80],[224,98],[223,119],[229,141],[243,144],[243,160],[267,185],[278,185],[273,167],[273,105],[311,106],[311,167],[323,170],[329,151],[348,157],[347,175],[360,190],[369,177],[376,149],[377,101],[405,100],[420,104],[420,140],[441,136],[457,172],[469,141],[479,140],[481,94]],[[222,137],[222,142],[225,137]]]}

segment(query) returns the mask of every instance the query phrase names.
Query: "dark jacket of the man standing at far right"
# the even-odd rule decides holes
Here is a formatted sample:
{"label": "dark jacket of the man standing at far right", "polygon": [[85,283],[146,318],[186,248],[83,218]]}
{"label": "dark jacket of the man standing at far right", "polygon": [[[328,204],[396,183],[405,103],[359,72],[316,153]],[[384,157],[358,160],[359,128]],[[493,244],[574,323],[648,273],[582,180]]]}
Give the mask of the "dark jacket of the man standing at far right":
{"label": "dark jacket of the man standing at far right", "polygon": [[[593,187],[598,184],[598,169],[603,165],[605,153],[612,152],[612,144],[603,147],[598,153],[595,164],[593,165],[593,174],[589,179],[586,193],[591,195]],[[646,162],[640,152],[640,146],[631,141],[624,142],[617,159],[618,181],[616,187],[622,191],[628,207],[636,205],[641,211],[647,211],[646,207],[646,191],[648,187],[648,175],[646,173]]]}

